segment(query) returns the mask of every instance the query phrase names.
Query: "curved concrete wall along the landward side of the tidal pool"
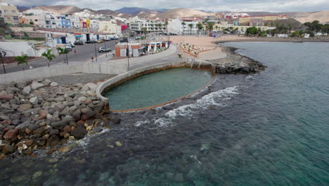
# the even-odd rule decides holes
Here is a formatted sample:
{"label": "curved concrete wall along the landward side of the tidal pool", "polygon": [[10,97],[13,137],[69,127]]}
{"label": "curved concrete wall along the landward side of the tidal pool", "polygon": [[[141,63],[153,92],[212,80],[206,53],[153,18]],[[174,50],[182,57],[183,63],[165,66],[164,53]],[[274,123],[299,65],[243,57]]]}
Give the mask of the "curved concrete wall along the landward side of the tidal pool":
{"label": "curved concrete wall along the landward side of the tidal pool", "polygon": [[[96,95],[98,99],[105,101],[107,105],[105,105],[105,109],[110,109],[109,101],[107,97],[102,96],[102,92],[105,90],[111,89],[112,87],[115,87],[117,85],[122,84],[123,82],[126,82],[127,80],[131,80],[134,77],[138,77],[140,75],[144,75],[147,73],[153,73],[155,71],[159,70],[165,70],[168,68],[178,68],[178,67],[191,67],[192,62],[174,62],[174,63],[162,63],[157,64],[153,66],[146,66],[143,68],[137,68],[135,70],[131,70],[127,73],[123,73],[121,75],[117,75],[116,77],[112,77],[110,80],[107,80],[103,82],[101,85],[98,85],[96,89]],[[205,70],[211,70],[212,73],[215,75],[216,68],[212,63],[209,62],[202,62],[202,64],[198,67],[198,65],[193,66],[193,68],[199,68],[199,69],[205,69]],[[137,109],[138,110],[138,109]]]}

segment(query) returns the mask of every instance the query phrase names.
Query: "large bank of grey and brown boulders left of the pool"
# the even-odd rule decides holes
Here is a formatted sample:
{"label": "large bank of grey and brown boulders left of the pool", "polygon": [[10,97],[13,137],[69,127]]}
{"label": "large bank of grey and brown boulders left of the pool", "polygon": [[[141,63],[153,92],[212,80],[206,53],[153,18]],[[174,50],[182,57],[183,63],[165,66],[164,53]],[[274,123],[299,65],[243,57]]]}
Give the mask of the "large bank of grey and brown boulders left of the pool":
{"label": "large bank of grey and brown boulders left of the pool", "polygon": [[96,97],[101,82],[58,85],[49,79],[0,85],[0,159],[68,151],[60,145],[109,128],[105,102]]}

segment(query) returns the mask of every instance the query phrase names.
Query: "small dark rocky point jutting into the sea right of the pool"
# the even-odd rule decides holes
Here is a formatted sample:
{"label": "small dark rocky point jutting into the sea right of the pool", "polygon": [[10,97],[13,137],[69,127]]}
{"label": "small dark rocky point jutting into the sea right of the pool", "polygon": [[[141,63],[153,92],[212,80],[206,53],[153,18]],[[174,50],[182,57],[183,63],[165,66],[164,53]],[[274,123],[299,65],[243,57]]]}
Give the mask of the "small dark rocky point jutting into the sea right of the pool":
{"label": "small dark rocky point jutting into the sea right of the pool", "polygon": [[226,58],[208,60],[216,66],[216,73],[219,74],[249,74],[259,73],[264,70],[264,66],[259,61],[255,61],[247,56],[242,56],[236,53],[238,48],[231,46],[223,46],[222,51],[226,53]]}

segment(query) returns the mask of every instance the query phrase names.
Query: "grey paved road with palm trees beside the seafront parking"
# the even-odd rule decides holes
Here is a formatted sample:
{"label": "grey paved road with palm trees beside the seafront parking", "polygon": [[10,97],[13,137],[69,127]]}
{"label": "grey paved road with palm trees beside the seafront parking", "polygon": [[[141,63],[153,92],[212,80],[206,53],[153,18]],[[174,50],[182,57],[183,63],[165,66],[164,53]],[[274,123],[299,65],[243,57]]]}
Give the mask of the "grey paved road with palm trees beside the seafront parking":
{"label": "grey paved road with palm trees beside the seafront parking", "polygon": [[[106,42],[106,46],[110,49],[112,49],[112,51],[115,51],[115,41],[118,40],[112,40],[112,41],[108,41]],[[96,50],[98,50],[98,48],[100,46],[105,46],[105,43],[96,43]],[[77,51],[77,55],[75,55],[74,50]],[[96,52],[98,58],[102,58],[105,56],[104,53],[99,53],[98,51]],[[112,53],[108,53],[108,55],[112,55]],[[75,48],[73,48],[73,50],[67,54],[67,58],[68,58],[68,63],[70,64],[78,64],[78,63],[86,63],[91,61],[91,56],[95,56],[95,44],[84,44],[84,45],[77,45]],[[96,59],[95,59],[96,60]],[[54,66],[54,65],[63,65],[64,62],[64,56],[56,56],[56,58],[53,59],[53,61],[51,61],[50,65]],[[48,61],[46,60],[46,58],[42,58],[39,59],[37,61],[30,61],[28,63],[28,65],[20,65],[17,66],[17,63],[15,64],[11,64],[11,65],[6,65],[6,73],[13,73],[13,72],[17,72],[17,71],[21,71],[23,70],[23,68],[25,68],[25,70],[29,69],[30,65],[33,66],[33,68],[40,68],[40,67],[44,67],[44,66],[48,66]],[[4,68],[2,68],[2,66],[0,67],[0,73],[4,74]]]}

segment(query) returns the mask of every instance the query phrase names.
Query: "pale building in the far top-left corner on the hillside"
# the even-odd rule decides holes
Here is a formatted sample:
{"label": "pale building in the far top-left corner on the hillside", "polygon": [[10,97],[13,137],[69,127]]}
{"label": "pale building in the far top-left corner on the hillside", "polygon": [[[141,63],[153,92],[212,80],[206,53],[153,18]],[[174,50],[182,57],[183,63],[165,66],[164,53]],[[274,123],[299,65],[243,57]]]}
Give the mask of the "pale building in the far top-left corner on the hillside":
{"label": "pale building in the far top-left corner on the hillside", "polygon": [[6,0],[0,0],[0,18],[6,23],[16,25],[20,23],[16,6],[8,4]]}

